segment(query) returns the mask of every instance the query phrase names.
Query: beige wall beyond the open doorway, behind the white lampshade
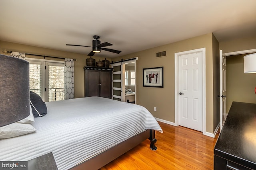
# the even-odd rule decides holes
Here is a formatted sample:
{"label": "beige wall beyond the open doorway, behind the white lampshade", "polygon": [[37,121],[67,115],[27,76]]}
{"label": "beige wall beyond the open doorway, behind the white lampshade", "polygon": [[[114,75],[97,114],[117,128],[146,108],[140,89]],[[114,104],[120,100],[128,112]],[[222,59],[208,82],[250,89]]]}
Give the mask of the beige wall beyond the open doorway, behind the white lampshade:
{"label": "beige wall beyond the open doorway, behind the white lampshade", "polygon": [[[245,55],[245,54],[244,54]],[[226,57],[226,108],[232,102],[256,103],[256,74],[244,73],[244,55]]]}

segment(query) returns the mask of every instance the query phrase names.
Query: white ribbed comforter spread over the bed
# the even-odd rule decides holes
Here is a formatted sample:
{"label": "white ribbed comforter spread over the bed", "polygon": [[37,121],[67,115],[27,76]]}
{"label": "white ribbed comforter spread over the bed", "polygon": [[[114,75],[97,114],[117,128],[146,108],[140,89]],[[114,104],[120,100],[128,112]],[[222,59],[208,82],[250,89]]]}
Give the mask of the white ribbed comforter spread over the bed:
{"label": "white ribbed comforter spread over the bed", "polygon": [[162,132],[142,106],[100,97],[46,103],[48,113],[35,118],[36,132],[0,139],[0,160],[30,160],[52,152],[59,170],[96,156],[146,130]]}

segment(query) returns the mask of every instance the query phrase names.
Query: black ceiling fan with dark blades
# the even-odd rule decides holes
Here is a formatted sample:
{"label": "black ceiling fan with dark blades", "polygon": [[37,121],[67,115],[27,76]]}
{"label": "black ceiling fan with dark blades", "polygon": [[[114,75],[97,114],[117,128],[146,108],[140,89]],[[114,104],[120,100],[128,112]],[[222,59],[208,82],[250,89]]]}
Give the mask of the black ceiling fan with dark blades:
{"label": "black ceiling fan with dark blades", "polygon": [[94,53],[100,53],[100,50],[105,50],[105,51],[109,51],[109,52],[116,53],[116,54],[121,53],[121,51],[118,51],[118,50],[102,48],[102,47],[111,46],[111,45],[113,45],[113,44],[110,44],[110,43],[108,43],[108,42],[100,43],[100,40],[99,40],[99,39],[100,39],[100,36],[94,35],[93,38],[94,38],[94,40],[92,40],[92,46],[73,45],[73,44],[66,44],[66,45],[80,46],[80,47],[92,47],[92,51],[88,54],[88,56],[93,56]]}

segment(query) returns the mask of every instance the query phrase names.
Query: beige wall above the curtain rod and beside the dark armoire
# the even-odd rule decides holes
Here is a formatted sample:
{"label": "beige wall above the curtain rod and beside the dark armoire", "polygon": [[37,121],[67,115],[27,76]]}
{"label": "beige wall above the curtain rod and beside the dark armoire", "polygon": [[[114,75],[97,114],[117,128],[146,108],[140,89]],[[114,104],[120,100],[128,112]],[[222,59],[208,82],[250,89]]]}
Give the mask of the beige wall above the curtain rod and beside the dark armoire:
{"label": "beige wall above the curtain rod and beside the dark armoire", "polygon": [[[84,54],[78,54],[78,53],[70,53],[66,51],[59,51],[54,49],[46,49],[42,47],[35,47],[31,45],[23,45],[18,43],[10,43],[6,41],[0,41],[0,54],[4,54],[3,50],[6,49],[7,51],[17,51],[22,53],[30,53],[30,54],[36,54],[36,55],[47,55],[52,57],[61,57],[61,58],[72,58],[72,59],[78,59],[78,61],[74,62],[75,65],[75,98],[81,98],[84,97],[84,66],[86,66],[86,59],[89,58],[87,55]],[[4,54],[4,55],[10,55]],[[31,57],[31,56],[26,56]],[[36,57],[41,58],[43,57]],[[92,57],[96,61],[99,61],[99,59],[104,60],[105,58],[102,57]],[[49,60],[62,60],[62,59],[54,59],[54,58],[46,58]],[[108,59],[108,58],[107,58]],[[110,59],[108,59],[110,61]],[[64,61],[64,60],[62,60]]]}

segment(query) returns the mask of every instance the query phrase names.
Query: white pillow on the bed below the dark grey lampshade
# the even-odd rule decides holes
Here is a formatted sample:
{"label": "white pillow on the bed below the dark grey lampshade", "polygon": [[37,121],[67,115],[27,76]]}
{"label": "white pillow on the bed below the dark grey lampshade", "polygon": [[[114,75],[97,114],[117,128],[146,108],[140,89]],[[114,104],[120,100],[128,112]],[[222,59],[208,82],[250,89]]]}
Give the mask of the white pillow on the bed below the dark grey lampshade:
{"label": "white pillow on the bed below the dark grey lampshade", "polygon": [[30,106],[30,114],[28,117],[10,125],[0,127],[0,139],[16,137],[36,131],[34,126],[30,124],[32,121],[34,121],[34,116]]}

